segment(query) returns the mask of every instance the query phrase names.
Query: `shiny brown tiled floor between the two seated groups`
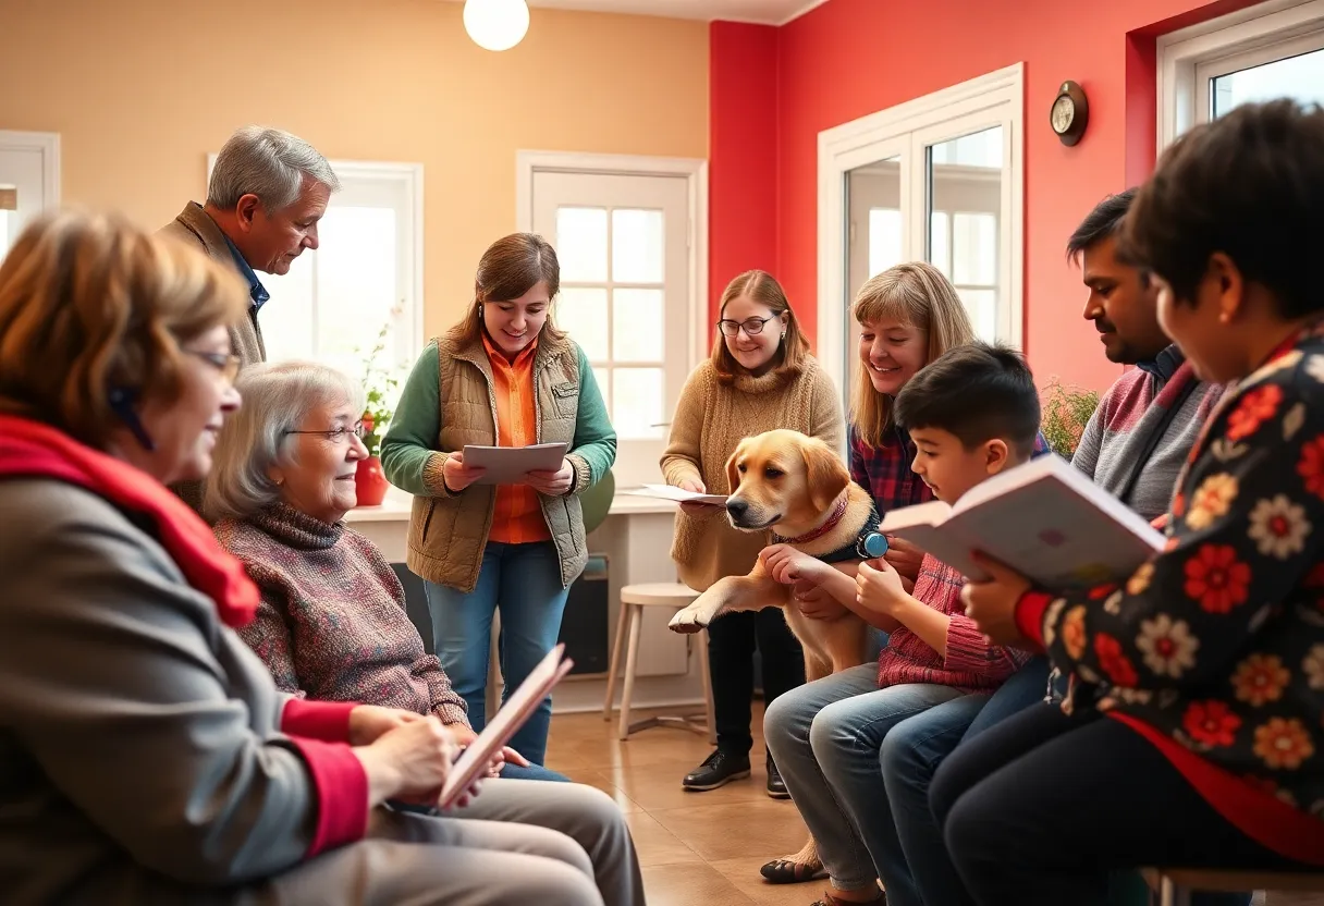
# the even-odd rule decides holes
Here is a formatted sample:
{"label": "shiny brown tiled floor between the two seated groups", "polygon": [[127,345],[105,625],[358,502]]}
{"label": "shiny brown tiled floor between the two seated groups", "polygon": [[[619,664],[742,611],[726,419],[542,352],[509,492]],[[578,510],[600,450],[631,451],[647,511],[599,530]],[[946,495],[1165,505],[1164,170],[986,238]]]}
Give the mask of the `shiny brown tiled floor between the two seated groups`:
{"label": "shiny brown tiled floor between the two seated groups", "polygon": [[759,876],[760,865],[798,850],[808,836],[796,807],[764,792],[760,718],[756,706],[753,776],[702,793],[681,789],[681,778],[712,751],[703,736],[654,727],[620,742],[616,721],[601,714],[552,721],[547,766],[620,803],[649,906],[809,906],[821,891],[821,883],[779,886]]}

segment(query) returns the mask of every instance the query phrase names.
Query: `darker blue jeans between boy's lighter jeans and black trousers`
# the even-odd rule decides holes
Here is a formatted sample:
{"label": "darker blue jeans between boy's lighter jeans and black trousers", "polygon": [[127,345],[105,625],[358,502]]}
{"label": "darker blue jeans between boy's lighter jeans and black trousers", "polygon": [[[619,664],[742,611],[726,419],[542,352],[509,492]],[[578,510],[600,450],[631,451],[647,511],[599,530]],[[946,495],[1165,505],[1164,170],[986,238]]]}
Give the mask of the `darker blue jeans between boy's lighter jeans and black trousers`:
{"label": "darker blue jeans between boy's lighter jeans and black trousers", "polygon": [[[883,740],[883,785],[896,834],[880,861],[891,906],[948,906],[970,902],[928,807],[928,784],[953,748],[1004,718],[1043,699],[1047,658],[1035,657],[992,695],[953,698],[896,725]],[[879,858],[875,854],[875,858]]]}

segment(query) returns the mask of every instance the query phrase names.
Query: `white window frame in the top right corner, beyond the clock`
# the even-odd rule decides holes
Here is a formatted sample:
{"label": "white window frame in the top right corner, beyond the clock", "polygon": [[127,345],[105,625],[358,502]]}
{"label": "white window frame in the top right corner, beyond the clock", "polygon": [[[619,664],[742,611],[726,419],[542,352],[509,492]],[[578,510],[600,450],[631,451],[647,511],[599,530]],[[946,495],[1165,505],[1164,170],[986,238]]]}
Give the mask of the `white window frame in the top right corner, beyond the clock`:
{"label": "white window frame in the top right corner, beyond the clock", "polygon": [[1158,151],[1209,119],[1209,79],[1324,48],[1324,0],[1266,0],[1160,36]]}

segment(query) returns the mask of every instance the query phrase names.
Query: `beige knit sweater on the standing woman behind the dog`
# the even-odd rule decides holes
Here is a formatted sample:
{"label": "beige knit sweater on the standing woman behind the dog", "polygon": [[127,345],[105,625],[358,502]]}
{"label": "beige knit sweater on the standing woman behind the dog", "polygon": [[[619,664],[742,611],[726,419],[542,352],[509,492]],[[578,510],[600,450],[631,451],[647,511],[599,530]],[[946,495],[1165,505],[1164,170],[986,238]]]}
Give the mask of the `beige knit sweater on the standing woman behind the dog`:
{"label": "beige knit sweater on the standing woman behind the dog", "polygon": [[[736,444],[773,428],[790,428],[841,448],[841,399],[816,359],[806,356],[798,372],[740,375],[731,385],[718,383],[712,363],[704,362],[681,391],[662,474],[669,485],[698,478],[710,494],[730,494],[726,466]],[[749,572],[768,539],[767,531],[736,531],[719,507],[704,517],[678,513],[671,558],[681,581],[706,591],[723,576]]]}

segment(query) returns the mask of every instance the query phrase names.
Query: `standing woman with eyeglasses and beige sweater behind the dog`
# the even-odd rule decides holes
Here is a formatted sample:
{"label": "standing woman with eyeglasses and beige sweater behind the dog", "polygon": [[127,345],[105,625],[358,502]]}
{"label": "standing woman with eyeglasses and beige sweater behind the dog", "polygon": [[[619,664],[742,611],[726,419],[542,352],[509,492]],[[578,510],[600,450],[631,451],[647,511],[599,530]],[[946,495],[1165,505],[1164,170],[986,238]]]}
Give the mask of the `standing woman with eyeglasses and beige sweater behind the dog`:
{"label": "standing woman with eyeglasses and beige sweater behind the dog", "polygon": [[[735,489],[728,486],[726,462],[736,444],[773,428],[790,428],[839,448],[845,423],[837,389],[809,354],[781,285],[767,272],[749,270],[722,294],[712,355],[681,392],[662,473],[669,485],[685,490],[730,494]],[[681,581],[706,591],[718,579],[749,572],[769,542],[768,532],[732,528],[720,506],[685,503],[671,556]],[[708,627],[708,664],[718,748],[685,776],[686,789],[716,789],[751,774],[755,648],[764,702],[805,681],[804,652],[779,608],[715,620]],[[767,791],[773,799],[788,797],[771,756]]]}

